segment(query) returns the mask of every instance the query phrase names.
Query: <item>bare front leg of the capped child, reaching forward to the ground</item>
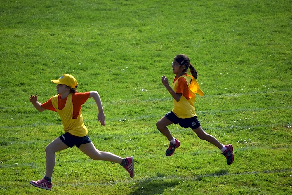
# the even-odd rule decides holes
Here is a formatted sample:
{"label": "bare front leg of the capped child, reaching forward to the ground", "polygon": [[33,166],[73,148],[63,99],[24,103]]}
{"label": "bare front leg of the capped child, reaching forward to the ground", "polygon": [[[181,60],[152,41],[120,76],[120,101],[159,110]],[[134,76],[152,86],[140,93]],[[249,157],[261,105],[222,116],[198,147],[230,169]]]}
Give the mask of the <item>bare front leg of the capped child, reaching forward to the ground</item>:
{"label": "bare front leg of the capped child, reaching forward to the ground", "polygon": [[69,148],[62,140],[57,137],[46,147],[46,176],[52,178],[56,163],[55,152]]}

